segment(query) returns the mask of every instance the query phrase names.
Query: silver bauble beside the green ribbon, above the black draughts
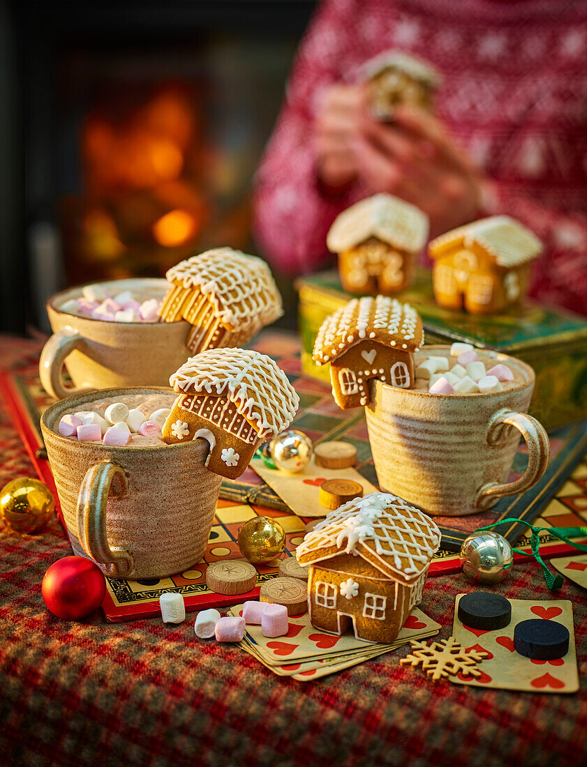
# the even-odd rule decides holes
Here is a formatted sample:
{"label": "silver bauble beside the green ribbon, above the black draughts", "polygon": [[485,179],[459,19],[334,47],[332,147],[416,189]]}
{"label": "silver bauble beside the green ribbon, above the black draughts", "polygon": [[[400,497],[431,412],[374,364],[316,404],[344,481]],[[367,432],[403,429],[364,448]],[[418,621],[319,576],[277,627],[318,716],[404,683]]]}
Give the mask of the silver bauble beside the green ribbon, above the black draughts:
{"label": "silver bauble beside the green ribbon, above the black draughts", "polygon": [[473,532],[460,547],[460,564],[470,581],[500,583],[513,562],[513,551],[498,532]]}

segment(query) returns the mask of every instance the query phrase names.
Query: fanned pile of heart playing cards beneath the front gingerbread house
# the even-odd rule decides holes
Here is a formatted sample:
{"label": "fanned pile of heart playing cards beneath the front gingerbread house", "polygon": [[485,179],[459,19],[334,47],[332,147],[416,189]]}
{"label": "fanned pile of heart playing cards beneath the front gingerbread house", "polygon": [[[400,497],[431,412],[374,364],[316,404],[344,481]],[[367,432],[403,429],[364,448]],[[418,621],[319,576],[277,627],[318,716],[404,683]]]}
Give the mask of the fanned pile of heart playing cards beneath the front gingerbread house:
{"label": "fanned pile of heart playing cards beneath the front gingerbread house", "polygon": [[[240,615],[242,604],[231,607],[229,615]],[[391,650],[411,639],[436,634],[440,624],[432,621],[418,608],[414,607],[407,618],[397,639],[392,644],[375,644],[356,639],[354,634],[326,634],[315,629],[310,623],[308,613],[289,617],[289,630],[283,637],[268,639],[263,637],[260,626],[248,625],[246,637],[256,651],[272,666],[282,666],[285,663],[298,663],[300,660],[318,660],[325,657],[347,655],[352,653],[371,653],[371,650]]]}

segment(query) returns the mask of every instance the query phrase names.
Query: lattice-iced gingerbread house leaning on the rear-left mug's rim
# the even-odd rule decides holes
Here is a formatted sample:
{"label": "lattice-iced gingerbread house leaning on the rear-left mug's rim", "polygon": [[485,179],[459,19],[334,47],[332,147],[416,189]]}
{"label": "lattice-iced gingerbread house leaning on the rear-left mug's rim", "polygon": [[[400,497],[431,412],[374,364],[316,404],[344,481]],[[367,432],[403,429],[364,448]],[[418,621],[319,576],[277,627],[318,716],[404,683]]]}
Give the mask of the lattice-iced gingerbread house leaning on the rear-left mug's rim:
{"label": "lattice-iced gingerbread house leaning on the rear-left mug's rim", "polygon": [[254,255],[217,248],[182,261],[167,272],[171,286],[160,321],[192,325],[187,347],[239,347],[283,314],[269,266]]}

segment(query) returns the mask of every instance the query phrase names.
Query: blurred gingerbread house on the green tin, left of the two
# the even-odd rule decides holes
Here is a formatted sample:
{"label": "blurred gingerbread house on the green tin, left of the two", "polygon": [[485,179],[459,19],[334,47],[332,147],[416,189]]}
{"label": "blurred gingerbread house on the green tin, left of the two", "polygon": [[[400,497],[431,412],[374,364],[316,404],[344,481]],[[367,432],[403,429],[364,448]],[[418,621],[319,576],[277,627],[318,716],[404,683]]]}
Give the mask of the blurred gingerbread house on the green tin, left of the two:
{"label": "blurred gingerbread house on the green tin, left of the two", "polygon": [[387,295],[410,284],[414,256],[427,236],[428,219],[419,208],[381,193],[341,212],[326,244],[338,253],[338,273],[345,291]]}

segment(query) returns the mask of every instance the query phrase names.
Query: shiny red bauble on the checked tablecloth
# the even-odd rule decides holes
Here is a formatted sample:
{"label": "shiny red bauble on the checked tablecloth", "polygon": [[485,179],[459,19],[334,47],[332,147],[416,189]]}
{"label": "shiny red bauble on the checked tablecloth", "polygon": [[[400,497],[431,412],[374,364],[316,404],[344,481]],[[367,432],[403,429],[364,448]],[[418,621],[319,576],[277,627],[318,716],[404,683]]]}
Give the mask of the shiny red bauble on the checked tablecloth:
{"label": "shiny red bauble on the checked tablecloth", "polygon": [[64,557],[43,576],[43,601],[58,618],[79,621],[97,610],[106,594],[100,568],[84,557]]}

